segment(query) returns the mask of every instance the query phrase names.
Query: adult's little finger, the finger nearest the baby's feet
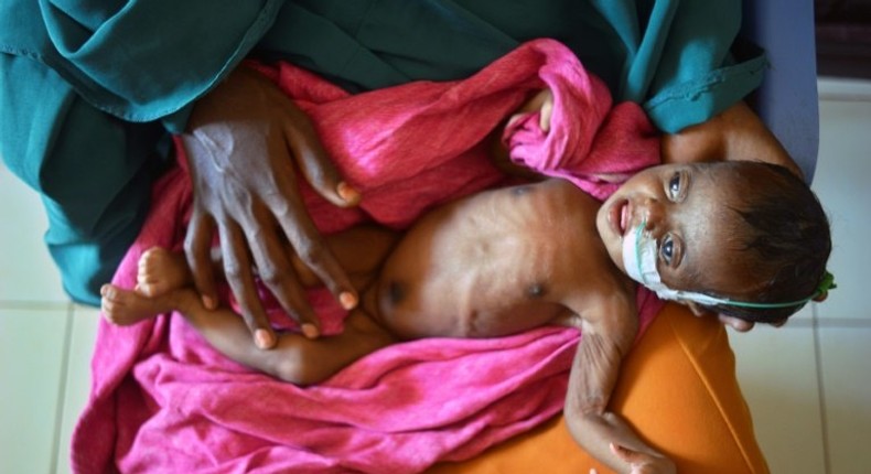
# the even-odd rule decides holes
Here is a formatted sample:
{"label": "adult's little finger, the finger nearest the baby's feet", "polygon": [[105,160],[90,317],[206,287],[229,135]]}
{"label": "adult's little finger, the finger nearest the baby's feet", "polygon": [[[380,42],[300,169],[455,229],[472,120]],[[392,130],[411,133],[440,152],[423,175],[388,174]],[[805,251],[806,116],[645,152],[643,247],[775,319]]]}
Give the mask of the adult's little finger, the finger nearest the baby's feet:
{"label": "adult's little finger, the finger nearest the baby's feet", "polygon": [[202,212],[194,212],[184,238],[184,256],[193,274],[194,286],[208,310],[217,308],[217,290],[215,272],[212,266],[212,237],[215,225],[212,218]]}

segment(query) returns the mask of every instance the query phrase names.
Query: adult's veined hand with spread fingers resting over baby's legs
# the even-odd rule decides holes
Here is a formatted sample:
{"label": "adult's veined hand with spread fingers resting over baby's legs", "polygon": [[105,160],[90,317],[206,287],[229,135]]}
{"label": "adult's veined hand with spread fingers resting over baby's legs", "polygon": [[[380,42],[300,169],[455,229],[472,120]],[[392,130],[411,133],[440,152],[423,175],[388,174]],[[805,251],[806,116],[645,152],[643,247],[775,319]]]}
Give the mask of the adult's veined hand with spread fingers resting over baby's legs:
{"label": "adult's veined hand with spread fingers resting over baby's legs", "polygon": [[217,306],[211,261],[215,230],[225,278],[258,347],[272,347],[277,340],[255,273],[301,323],[303,334],[320,334],[292,252],[344,308],[356,305],[351,281],[305,211],[297,173],[337,206],[355,205],[359,195],[342,181],[305,114],[275,84],[240,67],[196,104],[181,139],[194,187],[185,255],[206,308]]}

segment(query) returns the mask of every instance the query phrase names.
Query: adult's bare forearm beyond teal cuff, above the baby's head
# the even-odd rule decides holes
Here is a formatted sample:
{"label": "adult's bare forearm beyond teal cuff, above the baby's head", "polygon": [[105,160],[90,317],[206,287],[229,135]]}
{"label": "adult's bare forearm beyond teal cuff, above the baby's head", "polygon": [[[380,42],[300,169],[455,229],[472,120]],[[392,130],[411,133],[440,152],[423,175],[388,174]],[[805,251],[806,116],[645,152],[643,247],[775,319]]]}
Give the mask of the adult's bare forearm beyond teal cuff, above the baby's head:
{"label": "adult's bare forearm beyond teal cuff, above the baby's head", "polygon": [[804,177],[786,149],[743,100],[708,121],[664,134],[660,151],[663,163],[763,161]]}

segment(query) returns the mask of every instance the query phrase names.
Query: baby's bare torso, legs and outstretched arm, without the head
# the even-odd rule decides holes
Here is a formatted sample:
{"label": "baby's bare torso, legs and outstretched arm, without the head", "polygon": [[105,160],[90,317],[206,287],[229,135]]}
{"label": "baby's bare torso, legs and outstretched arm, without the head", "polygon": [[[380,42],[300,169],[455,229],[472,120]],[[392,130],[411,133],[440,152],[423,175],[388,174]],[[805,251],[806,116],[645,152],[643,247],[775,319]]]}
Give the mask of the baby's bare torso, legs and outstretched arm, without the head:
{"label": "baby's bare torso, legs and outstretched arm, without the head", "polygon": [[178,310],[228,357],[298,385],[320,383],[401,340],[495,337],[546,324],[583,328],[567,419],[577,424],[576,435],[583,433],[579,442],[616,466],[622,461],[602,440],[658,453],[619,418],[603,418],[620,360],[637,331],[637,311],[634,283],[613,265],[599,236],[599,208],[571,183],[549,180],[442,206],[398,243],[384,229],[331,236],[342,265],[362,276],[355,282],[361,308],[350,313],[340,335],[312,340],[282,333],[271,351],[257,348],[229,309],[206,310],[184,260],[162,250],[144,256],[137,290],[104,288],[104,311],[116,323],[131,324]]}

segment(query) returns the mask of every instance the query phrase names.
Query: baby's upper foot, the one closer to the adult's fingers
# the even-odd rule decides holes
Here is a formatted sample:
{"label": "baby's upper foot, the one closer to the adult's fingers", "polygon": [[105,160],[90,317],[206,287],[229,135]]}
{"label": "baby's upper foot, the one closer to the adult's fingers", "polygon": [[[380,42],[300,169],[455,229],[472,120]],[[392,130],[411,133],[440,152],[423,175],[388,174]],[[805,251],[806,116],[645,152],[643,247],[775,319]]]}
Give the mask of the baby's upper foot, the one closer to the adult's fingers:
{"label": "baby's upper foot, the one closer to the adult's fingers", "polygon": [[161,247],[152,247],[139,257],[136,291],[160,297],[192,282],[184,255]]}

